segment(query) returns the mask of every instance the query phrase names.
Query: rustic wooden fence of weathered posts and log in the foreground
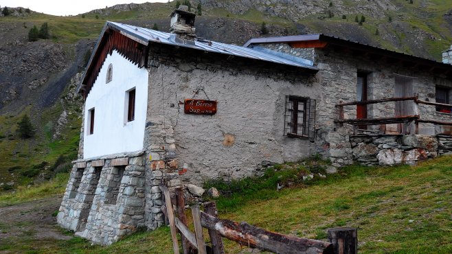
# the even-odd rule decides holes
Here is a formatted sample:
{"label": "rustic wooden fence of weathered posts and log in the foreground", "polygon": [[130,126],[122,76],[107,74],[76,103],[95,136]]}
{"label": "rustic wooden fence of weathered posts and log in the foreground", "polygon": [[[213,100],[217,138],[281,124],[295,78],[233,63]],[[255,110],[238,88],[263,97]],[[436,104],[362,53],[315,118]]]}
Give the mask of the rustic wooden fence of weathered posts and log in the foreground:
{"label": "rustic wooden fence of weathered posts and log in the foreground", "polygon": [[[181,187],[175,189],[177,217],[174,216],[170,192],[165,186],[161,186],[160,189],[165,198],[165,204],[164,207],[162,207],[162,210],[166,213],[169,220],[175,254],[179,253],[177,233],[180,233],[181,235],[181,244],[184,254],[196,253],[196,251],[200,254],[223,254],[225,253],[225,248],[223,246],[222,237],[238,242],[243,246],[248,246],[249,248],[270,251],[272,253],[335,253],[335,247],[344,245],[333,245],[330,242],[282,235],[280,233],[260,229],[247,222],[238,223],[232,220],[223,220],[218,218],[216,203],[214,202],[203,204],[205,211],[201,211],[197,205],[191,207],[194,223],[193,233],[187,226],[183,189]],[[203,228],[208,229],[210,246],[206,245],[204,242]],[[350,229],[348,229],[348,231],[350,231]],[[331,235],[333,235],[332,238],[336,239],[335,235],[338,235],[338,233],[335,232],[332,231]],[[356,229],[354,229],[353,232],[354,242],[352,241],[352,244],[355,245],[351,246],[350,249],[356,249],[357,244]],[[330,232],[328,232],[328,235],[330,235]],[[341,234],[339,233],[339,235]],[[341,243],[341,239],[339,239],[339,243]]]}

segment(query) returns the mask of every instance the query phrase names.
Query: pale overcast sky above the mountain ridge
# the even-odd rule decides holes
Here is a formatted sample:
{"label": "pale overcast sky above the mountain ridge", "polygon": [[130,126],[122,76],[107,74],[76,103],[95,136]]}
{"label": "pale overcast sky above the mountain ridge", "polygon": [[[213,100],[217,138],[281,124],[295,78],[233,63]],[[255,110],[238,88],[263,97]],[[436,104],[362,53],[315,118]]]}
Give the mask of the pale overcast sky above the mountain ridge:
{"label": "pale overcast sky above the mountain ridge", "polygon": [[56,16],[76,15],[118,3],[167,3],[168,0],[0,0],[3,7],[30,8],[35,12],[43,12]]}

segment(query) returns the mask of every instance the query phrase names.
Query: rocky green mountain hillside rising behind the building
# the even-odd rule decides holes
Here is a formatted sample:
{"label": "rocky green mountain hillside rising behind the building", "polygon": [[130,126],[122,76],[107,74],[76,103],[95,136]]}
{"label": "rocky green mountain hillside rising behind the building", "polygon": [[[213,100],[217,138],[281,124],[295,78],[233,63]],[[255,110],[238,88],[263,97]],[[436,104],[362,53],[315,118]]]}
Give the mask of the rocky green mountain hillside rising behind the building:
{"label": "rocky green mountain hillside rising behind the building", "polygon": [[[199,3],[196,34],[237,45],[259,36],[324,33],[440,60],[452,42],[450,1],[191,1]],[[45,181],[76,158],[82,105],[76,86],[105,21],[168,31],[174,5],[122,4],[76,16],[8,6],[10,15],[0,16],[0,189]],[[30,28],[43,23],[50,38],[28,42]],[[36,128],[31,139],[16,135],[25,113]]]}

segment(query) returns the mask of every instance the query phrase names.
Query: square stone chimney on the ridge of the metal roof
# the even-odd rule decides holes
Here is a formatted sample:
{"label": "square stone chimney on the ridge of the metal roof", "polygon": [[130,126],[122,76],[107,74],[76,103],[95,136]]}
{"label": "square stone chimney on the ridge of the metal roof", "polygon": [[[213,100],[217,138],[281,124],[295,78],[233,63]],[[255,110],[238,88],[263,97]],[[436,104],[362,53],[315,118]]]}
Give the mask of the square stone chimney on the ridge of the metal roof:
{"label": "square stone chimney on the ridge of the metal roof", "polygon": [[177,43],[194,44],[194,18],[196,14],[188,11],[188,6],[179,5],[177,10],[171,13],[170,32],[175,34]]}

